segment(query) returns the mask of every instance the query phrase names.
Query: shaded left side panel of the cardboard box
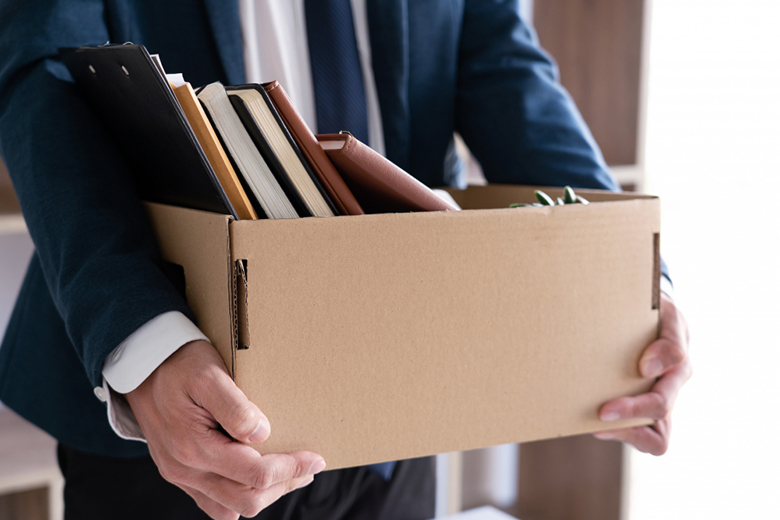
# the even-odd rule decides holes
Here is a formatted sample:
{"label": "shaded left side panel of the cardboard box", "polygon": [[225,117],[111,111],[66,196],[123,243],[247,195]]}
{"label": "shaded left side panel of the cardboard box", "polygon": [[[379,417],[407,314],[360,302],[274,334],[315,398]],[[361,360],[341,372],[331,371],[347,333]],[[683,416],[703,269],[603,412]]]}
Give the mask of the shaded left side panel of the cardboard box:
{"label": "shaded left side panel of the cardboard box", "polygon": [[160,253],[184,268],[187,304],[198,327],[233,364],[233,298],[227,215],[146,203]]}

